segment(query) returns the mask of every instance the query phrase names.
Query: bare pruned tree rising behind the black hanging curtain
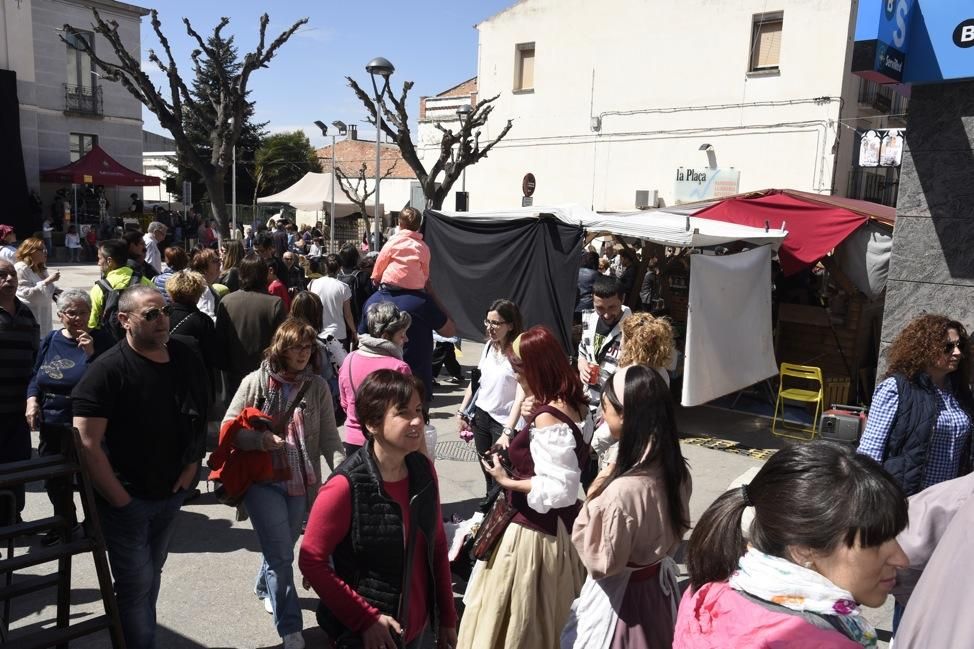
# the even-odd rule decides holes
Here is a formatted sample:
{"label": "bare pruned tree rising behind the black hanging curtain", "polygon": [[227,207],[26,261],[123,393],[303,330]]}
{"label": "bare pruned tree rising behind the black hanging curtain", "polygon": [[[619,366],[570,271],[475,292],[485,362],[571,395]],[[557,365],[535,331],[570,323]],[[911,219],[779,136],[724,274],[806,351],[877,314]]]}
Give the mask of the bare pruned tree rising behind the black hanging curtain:
{"label": "bare pruned tree rising behind the black hanging curtain", "polygon": [[[348,85],[355,91],[359,101],[368,110],[369,122],[376,123],[375,99],[370,97],[351,77],[345,77]],[[443,200],[450,193],[450,188],[460,178],[463,170],[470,165],[477,164],[487,157],[494,146],[504,139],[508,131],[511,130],[513,122],[507,120],[507,124],[501,129],[500,135],[488,142],[485,146],[480,145],[480,129],[487,124],[487,119],[494,111],[493,103],[500,95],[494,95],[490,99],[478,101],[470,112],[470,116],[461,123],[460,130],[454,132],[452,129],[436,124],[436,128],[443,133],[440,139],[440,155],[433,162],[429,170],[426,169],[419,155],[416,153],[416,146],[413,144],[412,135],[409,132],[409,114],[406,112],[406,97],[413,87],[412,81],[402,84],[402,94],[396,97],[388,84],[383,84],[379,94],[379,105],[382,108],[382,131],[388,135],[398,146],[403,160],[416,174],[416,179],[423,188],[426,196],[426,205],[433,209],[443,206]],[[388,105],[387,105],[388,104]],[[391,105],[391,109],[390,106]],[[453,147],[458,146],[458,155],[454,157]],[[442,174],[442,179],[440,175]],[[437,186],[439,183],[439,186]]]}

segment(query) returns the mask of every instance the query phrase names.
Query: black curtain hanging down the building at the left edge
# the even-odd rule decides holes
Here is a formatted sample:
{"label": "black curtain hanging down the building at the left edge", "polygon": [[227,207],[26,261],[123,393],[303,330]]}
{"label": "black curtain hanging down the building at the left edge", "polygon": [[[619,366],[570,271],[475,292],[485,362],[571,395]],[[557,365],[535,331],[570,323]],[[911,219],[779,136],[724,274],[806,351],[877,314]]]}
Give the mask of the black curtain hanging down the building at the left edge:
{"label": "black curtain hanging down the building at the left edge", "polygon": [[3,196],[0,223],[13,226],[17,240],[22,241],[40,229],[40,222],[28,202],[27,172],[20,143],[17,73],[12,70],[0,70],[0,142],[3,142],[0,147],[0,196]]}

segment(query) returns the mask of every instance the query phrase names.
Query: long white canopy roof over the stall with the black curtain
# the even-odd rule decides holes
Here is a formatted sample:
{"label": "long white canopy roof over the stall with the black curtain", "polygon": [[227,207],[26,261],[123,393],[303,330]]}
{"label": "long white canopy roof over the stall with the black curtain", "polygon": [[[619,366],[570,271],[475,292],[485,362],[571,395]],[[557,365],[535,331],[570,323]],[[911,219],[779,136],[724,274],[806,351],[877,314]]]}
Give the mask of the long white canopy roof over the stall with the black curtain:
{"label": "long white canopy roof over the stall with the black curtain", "polygon": [[769,244],[777,249],[786,232],[771,229],[724,223],[701,219],[664,210],[633,212],[627,214],[598,214],[578,205],[551,207],[521,207],[488,212],[441,212],[451,218],[483,221],[514,220],[550,214],[569,225],[581,225],[589,232],[609,232],[624,237],[635,237],[664,246],[680,248],[719,246],[733,241],[745,241],[754,245]]}

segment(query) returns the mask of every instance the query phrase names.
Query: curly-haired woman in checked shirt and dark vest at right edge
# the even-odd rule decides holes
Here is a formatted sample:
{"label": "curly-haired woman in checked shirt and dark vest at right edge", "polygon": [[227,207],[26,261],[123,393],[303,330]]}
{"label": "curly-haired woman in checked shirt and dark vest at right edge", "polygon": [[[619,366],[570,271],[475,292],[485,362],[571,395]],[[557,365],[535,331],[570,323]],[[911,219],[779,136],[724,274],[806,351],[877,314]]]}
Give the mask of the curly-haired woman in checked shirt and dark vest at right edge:
{"label": "curly-haired woman in checked shirt and dark vest at right edge", "polygon": [[971,366],[964,326],[915,318],[887,351],[859,452],[880,462],[912,496],[971,471]]}

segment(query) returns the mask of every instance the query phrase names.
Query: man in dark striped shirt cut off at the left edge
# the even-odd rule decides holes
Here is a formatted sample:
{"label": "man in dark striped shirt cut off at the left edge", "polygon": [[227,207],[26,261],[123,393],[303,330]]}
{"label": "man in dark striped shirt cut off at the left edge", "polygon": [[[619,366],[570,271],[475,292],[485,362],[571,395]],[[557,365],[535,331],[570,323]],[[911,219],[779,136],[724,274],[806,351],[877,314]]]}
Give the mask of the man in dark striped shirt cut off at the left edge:
{"label": "man in dark striped shirt cut off at the left edge", "polygon": [[[30,459],[30,428],[24,418],[27,384],[34,371],[40,327],[30,308],[17,299],[17,271],[0,259],[0,464]],[[24,488],[15,489],[17,516],[24,509]],[[0,525],[13,518],[0,502]]]}

